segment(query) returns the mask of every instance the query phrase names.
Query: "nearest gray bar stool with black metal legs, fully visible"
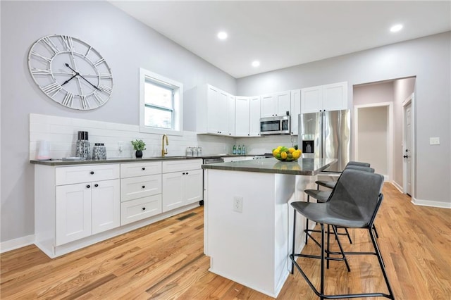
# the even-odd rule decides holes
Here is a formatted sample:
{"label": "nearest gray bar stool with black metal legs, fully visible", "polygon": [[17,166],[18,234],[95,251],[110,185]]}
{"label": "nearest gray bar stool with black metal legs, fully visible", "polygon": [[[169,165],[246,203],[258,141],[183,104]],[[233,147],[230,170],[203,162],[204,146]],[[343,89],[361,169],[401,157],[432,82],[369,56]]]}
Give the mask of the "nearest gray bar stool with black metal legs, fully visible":
{"label": "nearest gray bar stool with black metal legs, fully visible", "polygon": [[[376,297],[383,296],[388,299],[395,299],[393,291],[388,281],[388,276],[385,271],[385,265],[381,252],[379,251],[376,238],[373,234],[373,224],[378,213],[378,209],[381,206],[383,200],[383,194],[381,190],[383,187],[383,176],[379,174],[364,172],[361,170],[346,169],[342,172],[340,180],[338,180],[335,189],[333,189],[326,203],[313,203],[296,201],[291,204],[294,211],[294,227],[292,236],[292,254],[290,254],[290,260],[292,261],[292,272],[294,267],[299,270],[302,277],[307,281],[311,289],[321,299],[343,299],[343,298],[357,298],[357,297]],[[307,254],[295,253],[295,237],[296,237],[296,215],[300,213],[305,218],[309,218],[321,225],[321,255],[313,256]],[[324,225],[332,225],[335,227],[348,227],[348,228],[362,228],[369,232],[371,242],[373,244],[374,252],[344,252],[344,255],[376,255],[378,263],[381,267],[385,284],[388,288],[388,294],[383,292],[371,292],[362,294],[338,294],[328,295],[324,294],[324,261],[326,261],[325,245],[324,245]],[[335,229],[334,229],[335,231]],[[321,259],[321,280],[319,290],[314,287],[313,283],[309,280],[309,277],[304,273],[300,265],[297,263],[297,257],[307,258],[320,258]]]}

